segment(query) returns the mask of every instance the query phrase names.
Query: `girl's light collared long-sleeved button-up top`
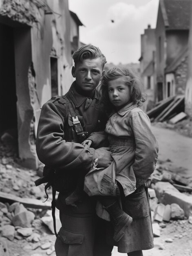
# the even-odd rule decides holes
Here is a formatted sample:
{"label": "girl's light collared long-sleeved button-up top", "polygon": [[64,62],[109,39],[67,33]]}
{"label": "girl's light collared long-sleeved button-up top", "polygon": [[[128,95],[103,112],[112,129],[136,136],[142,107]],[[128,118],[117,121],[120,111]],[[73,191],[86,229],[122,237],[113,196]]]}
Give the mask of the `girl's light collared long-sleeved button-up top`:
{"label": "girl's light collared long-sleeved button-up top", "polygon": [[[131,152],[127,153],[126,160],[133,157],[129,160],[133,162],[130,168],[135,173],[137,185],[144,184],[153,173],[158,156],[158,145],[150,128],[149,117],[137,105],[129,103],[119,111],[111,113],[104,133],[101,132],[100,136],[93,133],[88,139],[93,141],[93,146],[98,146],[107,137],[110,138],[109,141],[113,141],[113,137],[119,141],[135,140],[135,160]],[[118,162],[116,165],[118,167]],[[134,182],[134,177],[132,179]]]}

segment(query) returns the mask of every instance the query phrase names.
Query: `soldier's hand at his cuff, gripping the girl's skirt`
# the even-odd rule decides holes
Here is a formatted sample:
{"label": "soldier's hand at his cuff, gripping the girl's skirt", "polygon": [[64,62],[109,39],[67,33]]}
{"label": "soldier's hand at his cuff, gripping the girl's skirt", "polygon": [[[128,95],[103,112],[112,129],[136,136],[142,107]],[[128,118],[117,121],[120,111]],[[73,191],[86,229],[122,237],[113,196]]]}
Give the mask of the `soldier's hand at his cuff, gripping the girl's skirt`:
{"label": "soldier's hand at his cuff, gripping the girl's skirt", "polygon": [[111,157],[110,148],[98,148],[95,150],[95,159],[98,158],[98,164],[97,168],[107,168],[111,162],[113,161],[113,158]]}

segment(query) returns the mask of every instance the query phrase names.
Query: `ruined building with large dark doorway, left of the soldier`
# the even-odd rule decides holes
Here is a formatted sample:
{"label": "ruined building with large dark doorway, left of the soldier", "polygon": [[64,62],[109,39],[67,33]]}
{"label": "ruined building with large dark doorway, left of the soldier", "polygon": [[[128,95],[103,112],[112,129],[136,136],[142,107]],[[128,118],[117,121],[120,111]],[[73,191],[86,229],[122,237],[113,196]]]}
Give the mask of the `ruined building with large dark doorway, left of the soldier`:
{"label": "ruined building with large dark doorway, left of the soldier", "polygon": [[14,130],[26,167],[39,164],[40,108],[73,81],[71,42],[77,49],[81,24],[68,0],[0,0],[0,136]]}

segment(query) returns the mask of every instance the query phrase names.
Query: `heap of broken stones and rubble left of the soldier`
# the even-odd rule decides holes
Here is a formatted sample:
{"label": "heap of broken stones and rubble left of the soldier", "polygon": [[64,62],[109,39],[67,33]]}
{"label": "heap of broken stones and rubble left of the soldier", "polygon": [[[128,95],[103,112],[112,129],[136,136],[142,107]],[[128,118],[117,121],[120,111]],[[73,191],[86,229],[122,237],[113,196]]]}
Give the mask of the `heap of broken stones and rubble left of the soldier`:
{"label": "heap of broken stones and rubble left of the soldier", "polygon": [[[35,186],[34,180],[39,178],[35,171],[19,168],[15,163],[7,164],[3,159],[7,158],[2,158],[0,164],[0,255],[9,256],[10,248],[18,245],[22,249],[16,251],[22,253],[17,252],[14,256],[53,254],[51,189],[48,190],[49,200],[44,203],[44,185]],[[57,211],[55,217],[59,231]]]}

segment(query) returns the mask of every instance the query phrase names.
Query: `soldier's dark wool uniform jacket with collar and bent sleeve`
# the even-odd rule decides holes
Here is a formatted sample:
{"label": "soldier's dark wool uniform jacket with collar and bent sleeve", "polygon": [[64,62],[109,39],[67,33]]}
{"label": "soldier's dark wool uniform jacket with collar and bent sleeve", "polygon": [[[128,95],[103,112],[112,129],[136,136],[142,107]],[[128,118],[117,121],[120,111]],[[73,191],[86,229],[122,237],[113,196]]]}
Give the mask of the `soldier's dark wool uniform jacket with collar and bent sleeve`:
{"label": "soldier's dark wool uniform jacket with collar and bent sleeve", "polygon": [[[75,113],[79,114],[84,131],[89,135],[99,129],[99,111],[95,108],[98,101],[97,91],[94,91],[93,98],[90,99],[77,93],[74,85],[75,82],[67,95],[71,98]],[[68,141],[65,136],[66,125],[73,130],[73,123],[70,115],[68,120],[65,120],[65,111],[66,104],[62,97],[53,97],[42,106],[36,150],[42,163],[54,168],[57,172],[73,175],[76,171],[89,170],[94,161],[95,149],[87,145],[82,146],[77,141]]]}

